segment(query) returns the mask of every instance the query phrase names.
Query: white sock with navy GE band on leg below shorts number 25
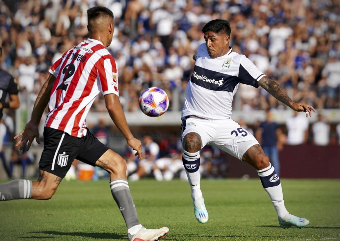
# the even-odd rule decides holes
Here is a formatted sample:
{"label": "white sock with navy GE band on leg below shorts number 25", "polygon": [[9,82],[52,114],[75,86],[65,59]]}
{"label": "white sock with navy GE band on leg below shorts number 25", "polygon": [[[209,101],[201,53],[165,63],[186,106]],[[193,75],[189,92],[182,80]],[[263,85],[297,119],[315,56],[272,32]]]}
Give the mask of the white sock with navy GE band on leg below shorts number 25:
{"label": "white sock with navy GE band on leg below shorts number 25", "polygon": [[257,173],[260,176],[263,188],[266,190],[270,199],[272,200],[278,218],[283,220],[288,214],[288,211],[285,207],[285,202],[283,201],[280,179],[277,176],[274,167],[269,164],[269,167],[258,170]]}

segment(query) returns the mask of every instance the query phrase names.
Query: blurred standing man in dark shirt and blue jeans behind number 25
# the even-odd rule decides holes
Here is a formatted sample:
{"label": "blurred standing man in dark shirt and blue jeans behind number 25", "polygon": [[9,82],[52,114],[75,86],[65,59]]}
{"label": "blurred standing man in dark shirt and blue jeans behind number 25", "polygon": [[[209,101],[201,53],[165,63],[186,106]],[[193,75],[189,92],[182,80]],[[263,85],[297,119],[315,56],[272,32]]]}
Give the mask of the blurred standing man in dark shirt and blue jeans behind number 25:
{"label": "blurred standing man in dark shirt and blue jeans behind number 25", "polygon": [[273,122],[270,110],[266,111],[266,120],[261,122],[258,129],[257,139],[261,140],[261,146],[265,154],[269,157],[269,161],[274,166],[276,174],[280,175],[280,162],[278,159],[277,136],[279,135],[279,127]]}

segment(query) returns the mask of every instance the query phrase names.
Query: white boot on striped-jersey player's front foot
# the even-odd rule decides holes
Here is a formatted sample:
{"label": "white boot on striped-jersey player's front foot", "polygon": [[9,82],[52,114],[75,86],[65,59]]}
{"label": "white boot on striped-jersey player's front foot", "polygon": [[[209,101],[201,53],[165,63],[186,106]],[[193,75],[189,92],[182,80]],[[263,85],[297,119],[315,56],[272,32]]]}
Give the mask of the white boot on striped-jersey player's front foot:
{"label": "white boot on striped-jersey player's front foot", "polygon": [[128,234],[129,241],[157,241],[165,238],[169,228],[147,229],[142,227],[135,235]]}

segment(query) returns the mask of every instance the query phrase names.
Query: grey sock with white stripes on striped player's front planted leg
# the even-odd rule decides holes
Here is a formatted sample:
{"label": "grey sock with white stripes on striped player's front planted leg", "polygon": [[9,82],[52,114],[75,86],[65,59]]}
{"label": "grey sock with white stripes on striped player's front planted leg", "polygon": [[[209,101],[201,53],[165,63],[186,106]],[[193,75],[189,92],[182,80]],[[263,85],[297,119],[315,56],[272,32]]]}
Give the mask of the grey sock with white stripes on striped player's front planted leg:
{"label": "grey sock with white stripes on striped player's front planted leg", "polygon": [[140,224],[137,217],[136,207],[131,197],[128,180],[120,178],[114,179],[110,181],[110,186],[112,196],[125,220],[126,228],[129,229]]}

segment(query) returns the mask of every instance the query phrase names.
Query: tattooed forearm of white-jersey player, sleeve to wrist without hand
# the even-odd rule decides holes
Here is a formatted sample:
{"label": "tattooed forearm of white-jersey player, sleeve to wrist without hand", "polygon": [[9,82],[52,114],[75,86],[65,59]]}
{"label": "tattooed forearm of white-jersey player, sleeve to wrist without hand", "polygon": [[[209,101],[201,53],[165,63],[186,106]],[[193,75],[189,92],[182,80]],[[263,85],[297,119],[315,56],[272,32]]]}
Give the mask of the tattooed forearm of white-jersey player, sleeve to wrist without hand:
{"label": "tattooed forearm of white-jersey player, sleeve to wrist without hand", "polygon": [[258,81],[258,85],[267,90],[272,96],[274,96],[276,99],[278,99],[288,107],[292,107],[292,99],[289,98],[286,91],[284,91],[284,89],[282,89],[280,85],[274,80],[271,80],[267,76],[264,76]]}

